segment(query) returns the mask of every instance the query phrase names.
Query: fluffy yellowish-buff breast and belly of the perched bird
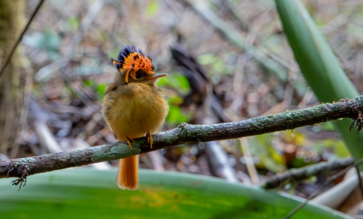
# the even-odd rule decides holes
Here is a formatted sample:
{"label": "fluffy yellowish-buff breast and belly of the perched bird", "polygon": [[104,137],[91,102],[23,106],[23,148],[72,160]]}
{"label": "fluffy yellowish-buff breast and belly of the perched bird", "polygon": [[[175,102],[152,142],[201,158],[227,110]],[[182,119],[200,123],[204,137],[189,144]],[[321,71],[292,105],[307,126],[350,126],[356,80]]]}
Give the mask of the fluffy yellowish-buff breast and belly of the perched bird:
{"label": "fluffy yellowish-buff breast and belly of the perched bird", "polygon": [[145,83],[124,84],[106,98],[103,114],[119,141],[158,131],[169,108],[160,89]]}

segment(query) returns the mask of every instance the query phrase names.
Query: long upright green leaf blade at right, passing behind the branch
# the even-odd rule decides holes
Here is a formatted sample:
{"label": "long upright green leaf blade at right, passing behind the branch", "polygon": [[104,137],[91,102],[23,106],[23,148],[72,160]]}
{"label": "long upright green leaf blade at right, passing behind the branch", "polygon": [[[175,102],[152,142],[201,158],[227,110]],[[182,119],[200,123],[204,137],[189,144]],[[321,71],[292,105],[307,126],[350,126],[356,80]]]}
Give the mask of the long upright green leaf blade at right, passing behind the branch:
{"label": "long upright green leaf blade at right, passing behind the branch", "polygon": [[[295,59],[321,102],[355,98],[358,92],[329,44],[299,0],[275,0]],[[356,160],[363,157],[363,136],[349,131],[350,119],[333,122]]]}

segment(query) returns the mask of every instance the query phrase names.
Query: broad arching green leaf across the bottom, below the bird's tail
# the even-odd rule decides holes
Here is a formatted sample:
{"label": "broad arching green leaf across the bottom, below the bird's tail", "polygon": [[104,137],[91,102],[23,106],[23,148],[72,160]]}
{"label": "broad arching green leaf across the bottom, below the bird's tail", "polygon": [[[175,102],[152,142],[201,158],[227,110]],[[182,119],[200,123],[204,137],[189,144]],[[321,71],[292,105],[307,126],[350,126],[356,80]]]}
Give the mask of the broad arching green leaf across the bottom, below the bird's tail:
{"label": "broad arching green leaf across the bottom, below the bird's tail", "polygon": [[[140,170],[136,191],[120,190],[116,170],[74,168],[28,177],[20,191],[0,179],[1,218],[284,218],[303,201],[223,179]],[[307,204],[294,219],[351,219]]]}

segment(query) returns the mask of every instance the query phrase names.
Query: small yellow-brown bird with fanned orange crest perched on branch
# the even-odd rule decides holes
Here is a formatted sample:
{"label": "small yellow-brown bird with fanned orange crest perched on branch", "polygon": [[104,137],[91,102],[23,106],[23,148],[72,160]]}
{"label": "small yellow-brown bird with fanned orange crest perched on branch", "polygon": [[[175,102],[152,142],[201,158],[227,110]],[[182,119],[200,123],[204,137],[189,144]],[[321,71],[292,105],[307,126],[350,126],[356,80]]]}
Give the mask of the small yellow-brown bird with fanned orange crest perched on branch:
{"label": "small yellow-brown bird with fanned orange crest perched on branch", "polygon": [[[152,148],[151,133],[159,131],[168,114],[169,105],[155,82],[167,74],[156,74],[151,58],[134,45],[125,46],[113,65],[118,70],[103,96],[102,115],[117,141],[146,135]],[[136,190],[139,184],[139,155],[120,159],[117,185],[120,189]]]}

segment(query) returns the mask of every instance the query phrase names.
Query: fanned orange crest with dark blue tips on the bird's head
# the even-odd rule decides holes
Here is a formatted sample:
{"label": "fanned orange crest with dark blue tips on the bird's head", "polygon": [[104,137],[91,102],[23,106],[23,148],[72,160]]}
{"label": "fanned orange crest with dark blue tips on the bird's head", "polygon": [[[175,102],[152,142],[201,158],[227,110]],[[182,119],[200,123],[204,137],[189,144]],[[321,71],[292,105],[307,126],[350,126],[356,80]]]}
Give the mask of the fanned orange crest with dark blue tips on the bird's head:
{"label": "fanned orange crest with dark blue tips on the bird's head", "polygon": [[136,79],[135,74],[139,70],[142,70],[146,76],[155,74],[151,58],[144,55],[141,49],[136,50],[134,45],[123,47],[119,52],[117,59],[113,61],[113,64],[119,71],[126,71],[126,83],[128,83],[129,75]]}

